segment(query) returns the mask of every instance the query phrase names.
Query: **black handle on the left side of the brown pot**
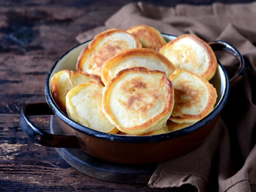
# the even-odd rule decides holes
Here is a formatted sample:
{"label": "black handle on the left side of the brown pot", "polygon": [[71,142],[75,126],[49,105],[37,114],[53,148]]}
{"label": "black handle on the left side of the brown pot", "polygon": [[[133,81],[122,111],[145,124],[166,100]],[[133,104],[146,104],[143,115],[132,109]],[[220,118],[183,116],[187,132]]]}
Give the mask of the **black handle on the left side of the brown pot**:
{"label": "black handle on the left side of the brown pot", "polygon": [[75,135],[47,133],[30,121],[28,116],[54,115],[46,102],[24,105],[20,112],[20,126],[30,139],[40,145],[56,148],[80,148]]}

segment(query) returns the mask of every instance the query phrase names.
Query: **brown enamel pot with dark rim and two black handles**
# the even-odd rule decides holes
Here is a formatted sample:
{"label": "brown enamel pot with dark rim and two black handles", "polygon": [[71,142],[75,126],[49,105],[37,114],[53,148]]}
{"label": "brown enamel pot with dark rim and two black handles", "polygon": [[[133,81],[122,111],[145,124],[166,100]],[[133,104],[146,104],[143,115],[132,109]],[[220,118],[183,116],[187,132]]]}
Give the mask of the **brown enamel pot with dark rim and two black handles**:
{"label": "brown enamel pot with dark rim and two black handles", "polygon": [[[162,34],[170,41],[176,36]],[[228,79],[227,73],[218,61],[218,67],[210,83],[217,90],[218,98],[212,112],[202,120],[186,128],[151,136],[125,136],[103,133],[82,126],[66,116],[52,99],[49,82],[52,76],[62,70],[75,70],[81,50],[89,44],[84,42],[66,52],[51,68],[45,83],[47,103],[32,103],[21,110],[20,125],[23,131],[35,142],[55,148],[80,148],[85,153],[103,160],[123,164],[157,163],[182,156],[198,147],[216,124],[229,92],[229,84],[236,83],[244,74],[244,59],[231,45],[223,41],[210,42],[214,51],[224,50],[234,55],[240,62],[235,75]],[[64,135],[44,132],[28,118],[33,115],[55,115]]]}

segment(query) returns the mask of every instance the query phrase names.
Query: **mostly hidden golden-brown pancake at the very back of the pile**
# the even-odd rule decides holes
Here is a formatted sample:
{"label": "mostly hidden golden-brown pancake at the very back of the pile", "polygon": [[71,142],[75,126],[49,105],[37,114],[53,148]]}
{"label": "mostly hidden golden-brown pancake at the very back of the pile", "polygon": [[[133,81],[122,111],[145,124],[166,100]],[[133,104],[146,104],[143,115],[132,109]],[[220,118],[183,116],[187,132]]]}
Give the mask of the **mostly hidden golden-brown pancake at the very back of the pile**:
{"label": "mostly hidden golden-brown pancake at the very back of the pile", "polygon": [[159,51],[166,44],[161,33],[156,28],[147,25],[133,26],[125,31],[134,35],[140,41],[143,48]]}

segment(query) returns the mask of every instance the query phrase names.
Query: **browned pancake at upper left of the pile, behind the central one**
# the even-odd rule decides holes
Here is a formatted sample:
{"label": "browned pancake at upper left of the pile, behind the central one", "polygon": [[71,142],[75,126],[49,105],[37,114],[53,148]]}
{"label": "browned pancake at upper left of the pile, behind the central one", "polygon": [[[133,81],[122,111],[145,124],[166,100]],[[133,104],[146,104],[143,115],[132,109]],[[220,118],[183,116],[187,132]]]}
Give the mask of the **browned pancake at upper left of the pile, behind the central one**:
{"label": "browned pancake at upper left of the pile, behind the central one", "polygon": [[109,29],[96,35],[80,53],[76,71],[101,75],[102,64],[115,54],[136,47],[140,42],[131,34],[120,29]]}

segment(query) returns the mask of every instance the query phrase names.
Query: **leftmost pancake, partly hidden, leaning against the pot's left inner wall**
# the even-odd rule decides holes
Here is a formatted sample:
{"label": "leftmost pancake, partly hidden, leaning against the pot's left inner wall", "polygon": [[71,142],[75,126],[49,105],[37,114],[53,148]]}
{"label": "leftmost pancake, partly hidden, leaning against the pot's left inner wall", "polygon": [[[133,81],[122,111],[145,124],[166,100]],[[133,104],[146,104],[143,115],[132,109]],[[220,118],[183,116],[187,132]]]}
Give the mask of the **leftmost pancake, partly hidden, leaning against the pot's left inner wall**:
{"label": "leftmost pancake, partly hidden, leaning against the pot's left inner wall", "polygon": [[66,94],[76,87],[76,85],[87,83],[88,81],[96,81],[103,85],[100,76],[86,72],[75,72],[64,69],[53,75],[50,82],[52,99],[62,112],[66,114]]}

